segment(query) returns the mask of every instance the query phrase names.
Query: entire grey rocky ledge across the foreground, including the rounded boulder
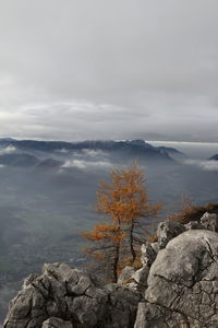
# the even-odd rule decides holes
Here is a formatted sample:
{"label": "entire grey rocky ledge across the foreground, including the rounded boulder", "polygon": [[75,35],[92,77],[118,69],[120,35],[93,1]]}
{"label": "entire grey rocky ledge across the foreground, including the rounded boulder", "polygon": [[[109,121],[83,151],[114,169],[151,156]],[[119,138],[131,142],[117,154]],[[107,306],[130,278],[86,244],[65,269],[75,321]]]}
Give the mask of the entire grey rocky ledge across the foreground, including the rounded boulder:
{"label": "entire grey rocky ledge across the foreground, including the rounded boulder", "polygon": [[118,283],[65,263],[46,263],[11,302],[3,328],[218,327],[218,216],[161,222],[142,246],[142,268]]}

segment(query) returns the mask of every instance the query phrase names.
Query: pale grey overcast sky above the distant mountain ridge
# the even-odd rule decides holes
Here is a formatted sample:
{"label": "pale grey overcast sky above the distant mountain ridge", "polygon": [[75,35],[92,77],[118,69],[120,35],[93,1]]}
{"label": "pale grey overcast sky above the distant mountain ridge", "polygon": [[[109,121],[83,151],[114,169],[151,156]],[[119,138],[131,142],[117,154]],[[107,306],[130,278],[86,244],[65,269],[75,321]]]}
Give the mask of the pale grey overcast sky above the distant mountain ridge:
{"label": "pale grey overcast sky above the distant mountain ridge", "polygon": [[217,0],[0,0],[0,134],[217,141]]}

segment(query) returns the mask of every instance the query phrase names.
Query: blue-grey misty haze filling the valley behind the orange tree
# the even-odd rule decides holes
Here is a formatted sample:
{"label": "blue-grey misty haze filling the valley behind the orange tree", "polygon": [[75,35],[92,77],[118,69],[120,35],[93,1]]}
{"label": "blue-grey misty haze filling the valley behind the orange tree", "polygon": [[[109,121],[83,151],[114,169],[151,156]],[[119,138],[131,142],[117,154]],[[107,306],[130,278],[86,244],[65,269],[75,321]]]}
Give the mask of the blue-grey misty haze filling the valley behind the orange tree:
{"label": "blue-grey misty haze filling the valley behind the orange tree", "polygon": [[[218,153],[218,145],[180,143],[177,148],[189,157],[181,156],[179,162],[141,157],[149,199],[164,203],[162,216],[184,195],[196,203],[217,202],[218,162],[206,160]],[[0,150],[0,156],[16,152],[10,145]],[[102,150],[28,153],[52,161],[35,166],[0,165],[0,319],[19,281],[39,271],[45,261],[83,265],[84,241],[78,234],[100,220],[94,211],[98,183],[112,168],[134,160],[125,152]]]}

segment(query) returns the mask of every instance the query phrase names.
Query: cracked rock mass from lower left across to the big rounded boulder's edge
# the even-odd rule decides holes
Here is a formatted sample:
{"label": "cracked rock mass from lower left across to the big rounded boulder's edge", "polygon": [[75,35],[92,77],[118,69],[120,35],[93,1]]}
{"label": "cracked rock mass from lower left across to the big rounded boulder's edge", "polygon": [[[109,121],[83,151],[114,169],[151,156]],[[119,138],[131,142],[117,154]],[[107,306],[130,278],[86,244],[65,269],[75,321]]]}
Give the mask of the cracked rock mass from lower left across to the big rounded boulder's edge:
{"label": "cracked rock mass from lower left across to the big rounded boulder's edge", "polygon": [[3,327],[59,327],[53,324],[58,319],[63,320],[60,328],[70,324],[83,328],[133,327],[140,298],[138,293],[119,284],[99,289],[85,272],[65,263],[46,263],[41,276],[25,280]]}

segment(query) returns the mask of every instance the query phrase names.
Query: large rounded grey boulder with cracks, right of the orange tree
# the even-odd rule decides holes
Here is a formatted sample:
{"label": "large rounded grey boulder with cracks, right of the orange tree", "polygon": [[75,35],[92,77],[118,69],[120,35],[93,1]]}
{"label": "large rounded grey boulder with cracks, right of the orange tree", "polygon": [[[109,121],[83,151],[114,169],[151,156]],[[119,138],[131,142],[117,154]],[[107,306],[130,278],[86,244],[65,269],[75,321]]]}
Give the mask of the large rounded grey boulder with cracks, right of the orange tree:
{"label": "large rounded grey boulder with cracks, right of the orange tree", "polygon": [[161,249],[135,328],[218,327],[218,234],[190,230]]}

